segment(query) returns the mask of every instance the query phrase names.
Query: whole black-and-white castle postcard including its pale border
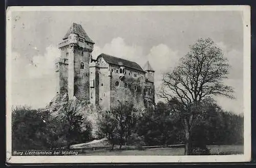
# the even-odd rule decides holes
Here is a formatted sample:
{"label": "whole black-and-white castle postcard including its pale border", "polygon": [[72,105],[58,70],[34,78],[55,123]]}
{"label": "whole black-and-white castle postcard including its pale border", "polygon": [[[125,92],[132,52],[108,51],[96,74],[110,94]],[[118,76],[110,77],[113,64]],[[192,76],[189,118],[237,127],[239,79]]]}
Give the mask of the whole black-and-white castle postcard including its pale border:
{"label": "whole black-and-white castle postcard including its pale border", "polygon": [[9,163],[251,157],[249,6],[9,7]]}

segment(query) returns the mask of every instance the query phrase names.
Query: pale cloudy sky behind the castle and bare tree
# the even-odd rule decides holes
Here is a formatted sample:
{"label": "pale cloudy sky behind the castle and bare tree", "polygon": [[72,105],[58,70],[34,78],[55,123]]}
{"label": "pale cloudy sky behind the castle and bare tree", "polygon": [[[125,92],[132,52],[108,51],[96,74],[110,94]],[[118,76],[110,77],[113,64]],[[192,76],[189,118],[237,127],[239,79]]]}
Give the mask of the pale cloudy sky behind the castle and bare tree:
{"label": "pale cloudy sky behind the castle and bare tree", "polygon": [[231,65],[225,84],[236,99],[217,97],[224,110],[243,113],[243,20],[239,11],[15,11],[11,26],[12,105],[44,107],[56,93],[57,43],[73,22],[95,42],[93,57],[105,53],[149,61],[155,86],[201,37],[210,37]]}

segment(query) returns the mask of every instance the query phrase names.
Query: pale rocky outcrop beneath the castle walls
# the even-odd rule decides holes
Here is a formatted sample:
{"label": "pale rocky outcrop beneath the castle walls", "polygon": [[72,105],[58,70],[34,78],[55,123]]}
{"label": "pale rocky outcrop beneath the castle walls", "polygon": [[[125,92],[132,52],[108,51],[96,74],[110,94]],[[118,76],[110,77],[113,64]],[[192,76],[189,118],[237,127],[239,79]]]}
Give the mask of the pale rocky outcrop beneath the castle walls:
{"label": "pale rocky outcrop beneath the castle walls", "polygon": [[92,124],[92,136],[97,138],[97,132],[99,130],[98,121],[101,110],[93,104],[86,104],[79,101],[74,96],[72,100],[69,100],[67,93],[59,94],[52,99],[52,101],[46,106],[46,110],[50,111],[54,117],[63,118],[65,106],[69,108],[77,108],[78,113],[82,114],[84,118],[87,118]]}

